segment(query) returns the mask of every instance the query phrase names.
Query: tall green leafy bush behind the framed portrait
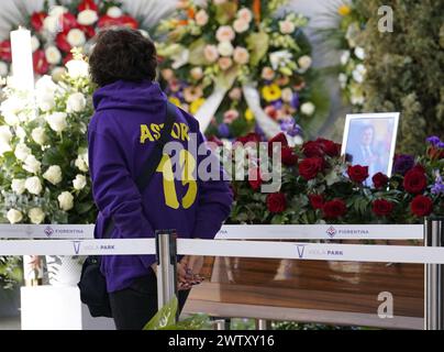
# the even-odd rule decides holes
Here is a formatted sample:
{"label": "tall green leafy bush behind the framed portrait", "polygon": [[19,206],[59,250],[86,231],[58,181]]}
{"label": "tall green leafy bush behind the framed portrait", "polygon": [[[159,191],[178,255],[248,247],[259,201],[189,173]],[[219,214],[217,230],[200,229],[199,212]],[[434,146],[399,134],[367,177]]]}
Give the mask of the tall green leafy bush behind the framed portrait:
{"label": "tall green leafy bush behind the framed portrait", "polygon": [[[364,33],[367,111],[400,111],[398,146],[421,151],[444,130],[444,2],[360,1],[370,14]],[[380,6],[393,10],[393,32],[378,31]]]}

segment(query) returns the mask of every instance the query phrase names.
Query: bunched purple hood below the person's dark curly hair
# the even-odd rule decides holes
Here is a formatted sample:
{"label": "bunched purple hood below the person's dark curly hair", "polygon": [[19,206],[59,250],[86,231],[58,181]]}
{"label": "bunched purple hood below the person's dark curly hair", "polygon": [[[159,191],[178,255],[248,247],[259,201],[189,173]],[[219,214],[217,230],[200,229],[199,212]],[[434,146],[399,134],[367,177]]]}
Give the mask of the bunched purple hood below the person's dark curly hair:
{"label": "bunched purple hood below the person's dark curly hair", "polygon": [[149,113],[164,110],[166,100],[159,85],[151,80],[118,80],[99,88],[92,97],[96,111],[118,109]]}

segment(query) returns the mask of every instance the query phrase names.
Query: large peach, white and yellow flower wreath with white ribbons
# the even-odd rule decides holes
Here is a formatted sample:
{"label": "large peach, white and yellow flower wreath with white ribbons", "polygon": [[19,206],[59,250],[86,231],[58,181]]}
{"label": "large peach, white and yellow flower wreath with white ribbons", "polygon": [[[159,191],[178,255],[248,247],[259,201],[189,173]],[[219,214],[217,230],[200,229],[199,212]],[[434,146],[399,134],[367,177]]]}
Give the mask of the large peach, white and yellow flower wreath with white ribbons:
{"label": "large peach, white and yellow flower wreath with white ribbons", "polygon": [[[317,116],[308,19],[276,11],[285,0],[179,1],[158,28],[160,77],[170,101],[208,135],[267,135]],[[271,133],[271,134],[270,134]]]}

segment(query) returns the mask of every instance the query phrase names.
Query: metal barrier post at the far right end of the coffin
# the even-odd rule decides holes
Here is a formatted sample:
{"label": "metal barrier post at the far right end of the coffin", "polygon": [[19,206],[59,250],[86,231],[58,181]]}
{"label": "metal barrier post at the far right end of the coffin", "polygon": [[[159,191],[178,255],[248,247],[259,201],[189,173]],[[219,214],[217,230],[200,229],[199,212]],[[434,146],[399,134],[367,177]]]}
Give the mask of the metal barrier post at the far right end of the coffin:
{"label": "metal barrier post at the far right end of the coffin", "polygon": [[[444,217],[426,218],[424,245],[444,248]],[[444,330],[444,265],[424,265],[424,329]]]}

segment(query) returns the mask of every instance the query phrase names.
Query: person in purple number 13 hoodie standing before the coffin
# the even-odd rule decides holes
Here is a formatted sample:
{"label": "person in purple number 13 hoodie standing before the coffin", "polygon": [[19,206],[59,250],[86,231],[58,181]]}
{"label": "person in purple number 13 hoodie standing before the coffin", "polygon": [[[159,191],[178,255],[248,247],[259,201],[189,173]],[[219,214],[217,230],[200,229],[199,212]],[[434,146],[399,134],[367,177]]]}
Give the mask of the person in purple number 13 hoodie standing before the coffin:
{"label": "person in purple number 13 hoodie standing before the coffin", "polygon": [[[102,238],[112,219],[112,239],[153,238],[159,229],[176,229],[178,238],[213,239],[227,218],[232,193],[222,179],[174,179],[165,173],[164,154],[144,191],[136,178],[151,157],[166,120],[167,97],[154,81],[156,50],[138,31],[112,28],[100,32],[89,58],[95,114],[88,127],[92,195],[99,208],[95,237]],[[184,146],[182,163],[197,169],[201,157],[189,151],[191,135],[204,143],[198,121],[177,108],[168,140]],[[164,150],[165,153],[165,150]],[[223,173],[221,168],[221,174]],[[196,257],[178,265],[179,308],[185,305]],[[154,255],[106,255],[107,278],[118,329],[142,329],[157,311]]]}

